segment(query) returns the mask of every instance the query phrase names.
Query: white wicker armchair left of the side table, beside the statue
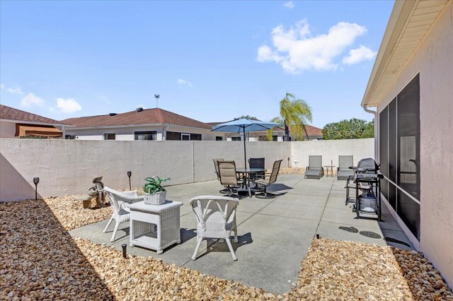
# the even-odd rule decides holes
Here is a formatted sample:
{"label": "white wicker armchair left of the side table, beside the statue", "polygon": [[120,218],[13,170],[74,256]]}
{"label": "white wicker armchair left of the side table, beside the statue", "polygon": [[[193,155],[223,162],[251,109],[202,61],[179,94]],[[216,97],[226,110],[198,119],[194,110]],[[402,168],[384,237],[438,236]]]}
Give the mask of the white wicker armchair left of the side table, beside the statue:
{"label": "white wicker armchair left of the side table, beside the statue", "polygon": [[115,220],[115,230],[113,230],[112,238],[110,242],[115,240],[116,231],[118,226],[121,223],[128,222],[130,219],[129,208],[127,208],[128,203],[137,203],[138,201],[143,201],[143,196],[137,194],[137,190],[134,191],[116,191],[108,187],[104,187],[105,193],[110,199],[110,205],[112,205],[113,214],[110,220],[107,223],[107,226],[103,230],[103,233],[107,232],[110,223],[112,220]]}

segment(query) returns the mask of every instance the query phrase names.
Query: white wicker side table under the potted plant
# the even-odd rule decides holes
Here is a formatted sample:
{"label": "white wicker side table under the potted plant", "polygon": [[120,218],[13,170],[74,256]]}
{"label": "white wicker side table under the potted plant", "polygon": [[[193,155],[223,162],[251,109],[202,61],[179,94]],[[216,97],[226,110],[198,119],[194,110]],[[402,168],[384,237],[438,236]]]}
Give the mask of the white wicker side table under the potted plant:
{"label": "white wicker side table under the potted plant", "polygon": [[179,244],[179,207],[183,203],[166,201],[160,206],[147,205],[144,201],[132,203],[130,208],[130,246],[154,249],[162,254],[171,244]]}

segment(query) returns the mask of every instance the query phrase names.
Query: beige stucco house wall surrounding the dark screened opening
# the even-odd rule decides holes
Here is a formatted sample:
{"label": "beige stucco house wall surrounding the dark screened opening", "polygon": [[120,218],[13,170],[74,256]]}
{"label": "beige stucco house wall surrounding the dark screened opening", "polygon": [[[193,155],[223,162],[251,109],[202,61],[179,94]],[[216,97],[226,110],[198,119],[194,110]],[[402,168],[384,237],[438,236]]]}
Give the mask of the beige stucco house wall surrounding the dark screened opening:
{"label": "beige stucco house wall surrounding the dark screened opening", "polygon": [[453,1],[386,93],[420,72],[420,248],[453,285]]}

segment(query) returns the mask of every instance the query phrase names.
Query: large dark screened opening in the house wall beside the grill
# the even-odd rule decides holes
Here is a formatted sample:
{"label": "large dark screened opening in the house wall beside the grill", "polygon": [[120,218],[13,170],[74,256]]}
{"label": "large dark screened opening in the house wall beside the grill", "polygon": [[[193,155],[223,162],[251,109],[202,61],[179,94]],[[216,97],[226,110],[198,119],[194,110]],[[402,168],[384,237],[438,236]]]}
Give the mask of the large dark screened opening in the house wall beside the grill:
{"label": "large dark screened opening in the house wall beside the grill", "polygon": [[379,113],[382,195],[420,240],[420,76]]}

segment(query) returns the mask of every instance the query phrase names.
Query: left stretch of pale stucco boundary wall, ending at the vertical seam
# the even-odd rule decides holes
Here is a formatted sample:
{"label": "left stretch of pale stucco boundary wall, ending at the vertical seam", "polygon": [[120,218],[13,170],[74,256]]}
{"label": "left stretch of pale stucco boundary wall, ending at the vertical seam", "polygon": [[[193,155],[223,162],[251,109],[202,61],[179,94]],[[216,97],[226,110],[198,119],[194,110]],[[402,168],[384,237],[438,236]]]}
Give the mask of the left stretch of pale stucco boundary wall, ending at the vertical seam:
{"label": "left stretch of pale stucco boundary wall, ending at the vertical seam", "polygon": [[[0,153],[8,163],[0,166],[1,200],[24,199],[21,191],[34,187],[33,177],[40,177],[42,196],[84,193],[97,176],[107,186],[127,188],[128,170],[134,187],[152,175],[171,177],[169,184],[193,182],[193,142],[187,141],[0,139]],[[11,170],[28,186],[11,183]]]}

